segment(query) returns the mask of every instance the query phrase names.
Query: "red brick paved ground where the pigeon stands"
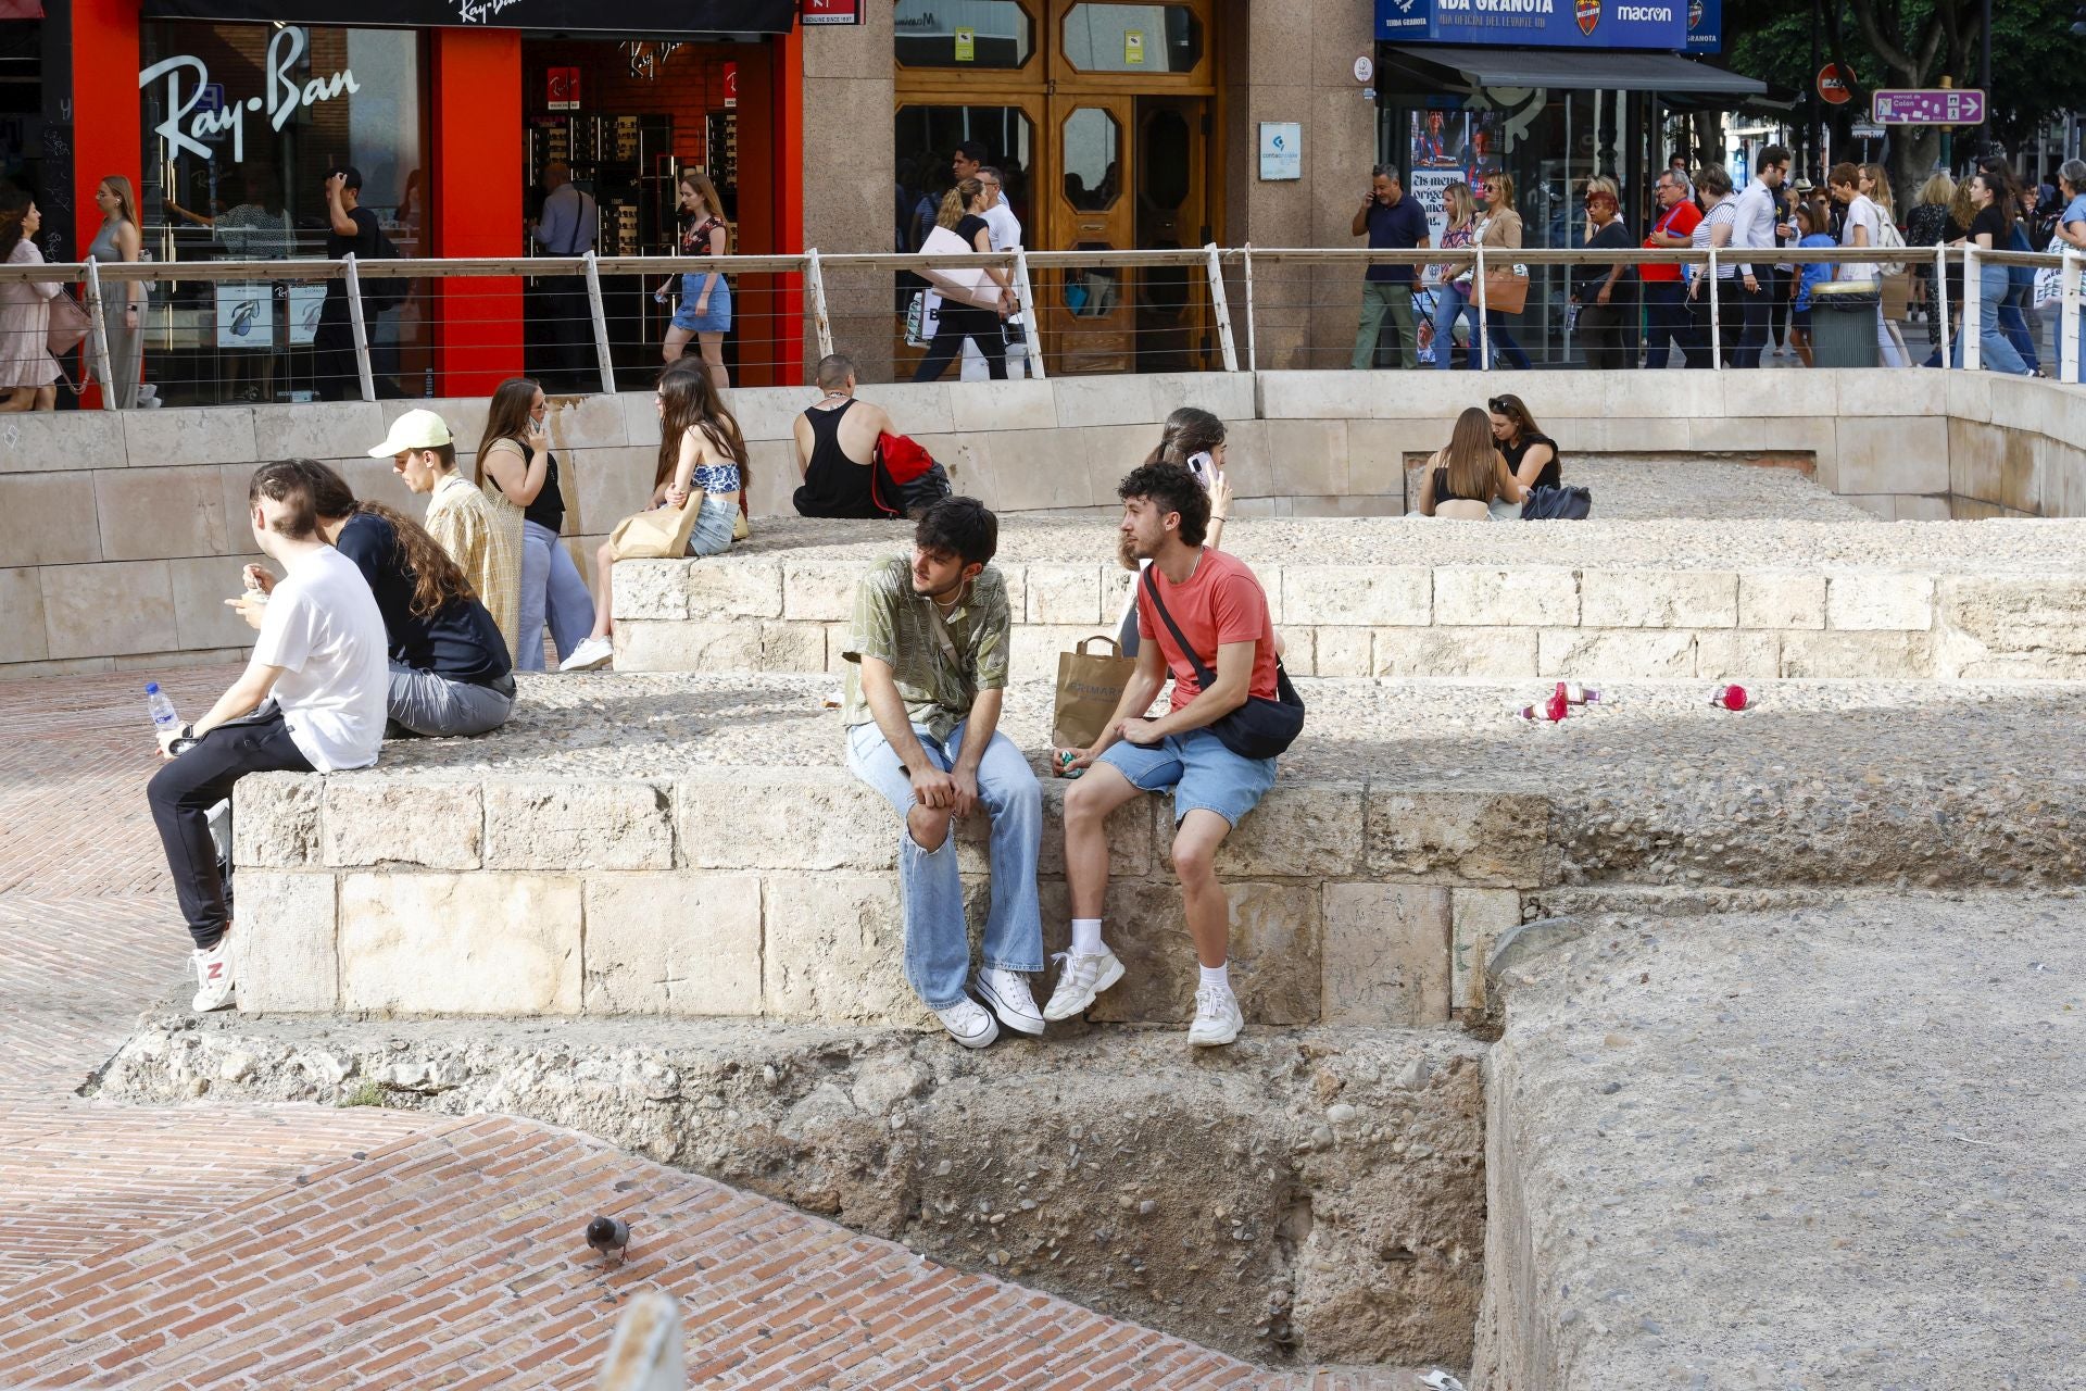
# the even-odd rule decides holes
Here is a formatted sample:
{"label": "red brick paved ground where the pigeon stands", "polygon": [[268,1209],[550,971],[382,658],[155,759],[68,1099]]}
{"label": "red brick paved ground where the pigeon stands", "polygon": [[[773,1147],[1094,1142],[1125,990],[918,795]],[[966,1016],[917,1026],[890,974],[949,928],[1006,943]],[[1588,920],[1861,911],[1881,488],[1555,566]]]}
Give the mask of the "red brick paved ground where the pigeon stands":
{"label": "red brick paved ground where the pigeon stands", "polygon": [[[657,1287],[701,1387],[1414,1385],[1262,1372],[503,1116],[79,1099],[188,989],[144,680],[0,684],[0,1383],[588,1387]],[[159,680],[194,713],[229,672]],[[626,1264],[580,1241],[597,1212]]]}

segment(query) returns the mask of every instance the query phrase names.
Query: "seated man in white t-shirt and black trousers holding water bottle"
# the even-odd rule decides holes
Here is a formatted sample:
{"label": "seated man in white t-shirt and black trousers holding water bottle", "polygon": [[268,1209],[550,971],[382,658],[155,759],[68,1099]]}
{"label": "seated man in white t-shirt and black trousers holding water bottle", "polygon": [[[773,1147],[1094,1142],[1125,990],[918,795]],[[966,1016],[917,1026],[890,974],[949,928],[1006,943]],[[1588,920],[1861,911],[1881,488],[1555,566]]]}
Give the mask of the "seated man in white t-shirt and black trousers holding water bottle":
{"label": "seated man in white t-shirt and black trousers holding water bottle", "polygon": [[196,941],[198,1011],[223,1009],[234,989],[232,903],[211,845],[211,807],[246,774],[369,767],[390,690],[384,615],[363,571],[319,536],[311,484],[292,463],[263,463],[246,507],[254,542],[286,576],[267,596],[246,672],[209,715],[161,736],[167,763],[146,786]]}

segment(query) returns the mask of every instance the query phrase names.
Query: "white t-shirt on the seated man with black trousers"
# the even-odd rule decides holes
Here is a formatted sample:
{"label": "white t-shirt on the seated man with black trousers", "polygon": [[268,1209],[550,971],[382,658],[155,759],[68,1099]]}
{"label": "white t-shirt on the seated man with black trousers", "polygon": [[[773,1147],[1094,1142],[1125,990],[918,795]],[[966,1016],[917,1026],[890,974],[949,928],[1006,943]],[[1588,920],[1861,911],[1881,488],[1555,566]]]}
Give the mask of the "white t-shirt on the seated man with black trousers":
{"label": "white t-shirt on the seated man with black trousers", "polygon": [[355,561],[311,551],[269,594],[252,665],[282,667],[273,699],[321,774],[369,767],[384,745],[390,655],[384,615]]}

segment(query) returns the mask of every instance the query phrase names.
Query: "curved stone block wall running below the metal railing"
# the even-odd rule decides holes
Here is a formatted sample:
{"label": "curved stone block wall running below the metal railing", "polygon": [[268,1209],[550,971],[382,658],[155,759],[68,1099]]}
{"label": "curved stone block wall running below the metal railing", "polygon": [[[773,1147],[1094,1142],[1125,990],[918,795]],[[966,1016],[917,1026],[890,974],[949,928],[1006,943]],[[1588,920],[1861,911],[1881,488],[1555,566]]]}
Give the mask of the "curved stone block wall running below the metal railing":
{"label": "curved stone block wall running below the metal railing", "polygon": [[[1231,421],[1241,515],[1320,517],[1402,513],[1406,457],[1444,444],[1456,411],[1494,386],[1454,373],[1262,371],[901,384],[864,396],[935,450],[957,488],[1010,513],[1112,511],[1116,480],[1166,413],[1199,405]],[[1560,371],[1517,373],[1510,386],[1567,450],[1811,455],[1823,486],[1890,519],[2086,515],[2082,388],[1961,371]],[[757,515],[789,513],[791,425],[811,396],[732,392]],[[17,621],[0,632],[0,678],[242,655],[250,632],[221,601],[252,559],[254,463],[323,459],[359,494],[415,511],[421,503],[365,450],[421,405],[448,419],[469,461],[482,398],[4,417],[0,603]],[[651,394],[559,400],[551,436],[567,544],[592,578],[595,546],[651,490]],[[1345,651],[1345,667],[1358,667],[1352,642]],[[1398,657],[1383,665],[1396,669]]]}

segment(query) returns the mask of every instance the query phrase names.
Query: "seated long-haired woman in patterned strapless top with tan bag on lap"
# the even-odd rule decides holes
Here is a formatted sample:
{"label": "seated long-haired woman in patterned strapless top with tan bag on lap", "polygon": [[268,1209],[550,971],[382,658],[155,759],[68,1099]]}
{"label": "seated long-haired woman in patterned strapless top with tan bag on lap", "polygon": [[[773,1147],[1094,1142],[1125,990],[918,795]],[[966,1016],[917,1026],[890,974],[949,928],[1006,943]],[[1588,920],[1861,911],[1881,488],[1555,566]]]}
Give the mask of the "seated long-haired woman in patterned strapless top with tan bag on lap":
{"label": "seated long-haired woman in patterned strapless top with tan bag on lap", "polygon": [[[709,373],[674,365],[659,373],[659,463],[653,469],[653,507],[695,507],[688,555],[724,555],[747,509],[753,471],[738,417],[718,394]],[[595,630],[572,649],[559,672],[592,672],[615,655],[611,576],[615,542],[595,553]]]}

